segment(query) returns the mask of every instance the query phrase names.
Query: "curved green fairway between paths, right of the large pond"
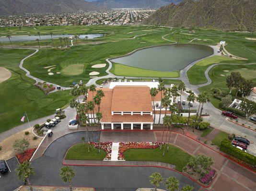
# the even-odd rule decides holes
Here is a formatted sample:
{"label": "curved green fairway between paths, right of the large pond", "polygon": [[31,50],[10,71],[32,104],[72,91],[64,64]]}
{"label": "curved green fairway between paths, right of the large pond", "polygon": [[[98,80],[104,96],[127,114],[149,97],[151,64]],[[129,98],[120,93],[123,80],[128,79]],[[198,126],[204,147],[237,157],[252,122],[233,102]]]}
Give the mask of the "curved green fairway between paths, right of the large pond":
{"label": "curved green fairway between paths, right of the large pond", "polygon": [[243,61],[234,60],[232,58],[229,58],[227,56],[212,56],[205,60],[202,60],[198,62],[197,64],[193,65],[188,71],[187,71],[187,77],[190,84],[193,85],[199,85],[204,84],[207,82],[207,79],[205,77],[205,70],[211,65],[211,64],[218,64],[218,63],[243,63]]}

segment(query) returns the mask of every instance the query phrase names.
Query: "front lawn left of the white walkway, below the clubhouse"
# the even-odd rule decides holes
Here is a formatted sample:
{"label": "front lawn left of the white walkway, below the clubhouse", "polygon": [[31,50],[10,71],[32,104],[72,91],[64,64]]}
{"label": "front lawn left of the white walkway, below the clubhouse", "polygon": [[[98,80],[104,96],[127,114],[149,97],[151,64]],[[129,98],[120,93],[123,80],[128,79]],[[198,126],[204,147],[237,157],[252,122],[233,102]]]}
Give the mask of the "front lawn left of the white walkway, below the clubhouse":
{"label": "front lawn left of the white walkway, below the clubhouse", "polygon": [[96,148],[91,148],[88,152],[88,143],[79,143],[72,146],[65,159],[67,160],[103,160],[106,156],[106,153],[103,149],[99,150]]}

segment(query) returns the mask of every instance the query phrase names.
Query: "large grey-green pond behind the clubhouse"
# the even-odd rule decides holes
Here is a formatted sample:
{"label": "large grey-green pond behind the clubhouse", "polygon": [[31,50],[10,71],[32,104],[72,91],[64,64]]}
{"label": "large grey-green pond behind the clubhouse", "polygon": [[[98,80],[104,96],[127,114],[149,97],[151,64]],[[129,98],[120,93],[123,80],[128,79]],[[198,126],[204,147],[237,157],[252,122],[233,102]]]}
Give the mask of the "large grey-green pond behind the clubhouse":
{"label": "large grey-green pond behind the clubhouse", "polygon": [[111,61],[148,70],[177,71],[212,53],[213,50],[208,46],[173,44],[146,48]]}

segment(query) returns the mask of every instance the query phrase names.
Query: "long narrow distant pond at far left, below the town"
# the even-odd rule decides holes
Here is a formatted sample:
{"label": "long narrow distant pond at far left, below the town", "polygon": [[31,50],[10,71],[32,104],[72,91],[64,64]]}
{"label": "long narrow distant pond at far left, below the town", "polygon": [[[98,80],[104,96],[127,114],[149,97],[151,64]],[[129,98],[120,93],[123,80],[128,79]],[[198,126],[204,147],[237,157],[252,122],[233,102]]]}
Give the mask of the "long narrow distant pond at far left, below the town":
{"label": "long narrow distant pond at far left, below the town", "polygon": [[[88,37],[88,39],[94,39],[97,37],[103,36],[103,34],[80,34],[79,38],[80,39],[85,39],[85,36]],[[52,38],[53,39],[58,39],[59,37],[74,37],[73,34],[53,34]],[[31,35],[31,36],[12,36],[11,41],[12,42],[24,42],[24,41],[35,41],[36,39],[41,39],[41,40],[48,40],[51,39],[51,35]],[[0,42],[9,42],[8,37],[0,37]]]}

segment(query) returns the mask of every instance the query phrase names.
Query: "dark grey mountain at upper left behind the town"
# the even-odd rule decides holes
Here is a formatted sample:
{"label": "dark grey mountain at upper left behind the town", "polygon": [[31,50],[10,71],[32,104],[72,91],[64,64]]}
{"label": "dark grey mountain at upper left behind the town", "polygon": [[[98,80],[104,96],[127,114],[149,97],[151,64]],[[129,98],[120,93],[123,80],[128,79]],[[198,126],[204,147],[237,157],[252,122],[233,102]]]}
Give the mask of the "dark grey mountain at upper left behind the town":
{"label": "dark grey mountain at upper left behind the town", "polygon": [[85,0],[0,0],[0,15],[93,10],[93,3]]}

